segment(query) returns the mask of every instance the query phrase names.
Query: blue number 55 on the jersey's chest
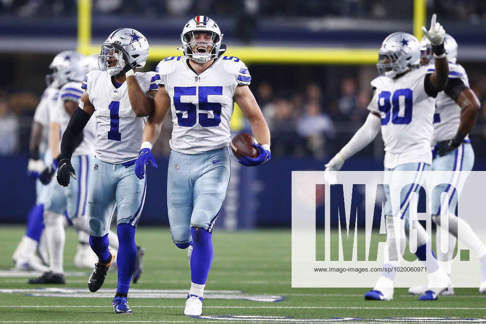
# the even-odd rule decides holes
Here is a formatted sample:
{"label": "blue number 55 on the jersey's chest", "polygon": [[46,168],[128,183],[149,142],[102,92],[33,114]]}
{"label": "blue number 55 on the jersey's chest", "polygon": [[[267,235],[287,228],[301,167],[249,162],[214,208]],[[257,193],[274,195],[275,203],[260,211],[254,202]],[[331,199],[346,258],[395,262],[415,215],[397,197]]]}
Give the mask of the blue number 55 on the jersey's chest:
{"label": "blue number 55 on the jersey's chest", "polygon": [[[223,95],[222,86],[200,86],[199,87],[199,113],[196,111],[196,105],[191,102],[181,102],[181,96],[195,96],[195,86],[175,86],[174,87],[174,106],[175,110],[182,111],[175,113],[177,116],[177,124],[183,127],[192,127],[196,124],[196,114],[199,115],[199,124],[203,127],[218,126],[221,122],[221,103],[208,102],[209,95]],[[209,118],[209,113],[201,112],[207,110],[213,112],[213,118]],[[187,113],[183,117],[184,112]]]}

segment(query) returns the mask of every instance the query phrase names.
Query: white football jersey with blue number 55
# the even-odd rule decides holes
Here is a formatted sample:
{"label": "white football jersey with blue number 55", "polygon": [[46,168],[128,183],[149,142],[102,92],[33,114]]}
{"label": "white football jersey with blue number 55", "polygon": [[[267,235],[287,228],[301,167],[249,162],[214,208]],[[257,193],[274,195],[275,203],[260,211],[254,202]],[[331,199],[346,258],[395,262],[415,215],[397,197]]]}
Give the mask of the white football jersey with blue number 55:
{"label": "white football jersey with blue number 55", "polygon": [[196,74],[185,56],[170,56],[156,68],[156,82],[171,98],[174,124],[171,148],[198,154],[227,147],[229,123],[237,85],[249,85],[248,68],[237,57],[221,56],[201,74]]}

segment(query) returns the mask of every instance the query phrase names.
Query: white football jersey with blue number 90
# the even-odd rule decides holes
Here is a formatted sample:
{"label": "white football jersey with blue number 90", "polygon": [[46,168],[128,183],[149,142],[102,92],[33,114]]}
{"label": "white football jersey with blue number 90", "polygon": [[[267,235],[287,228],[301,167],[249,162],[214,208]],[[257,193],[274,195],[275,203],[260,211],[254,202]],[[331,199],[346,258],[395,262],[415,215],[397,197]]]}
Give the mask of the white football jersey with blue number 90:
{"label": "white football jersey with blue number 90", "polygon": [[413,69],[398,79],[380,76],[371,81],[376,90],[368,109],[382,119],[385,168],[413,162],[432,164],[435,98],[425,92],[427,69]]}

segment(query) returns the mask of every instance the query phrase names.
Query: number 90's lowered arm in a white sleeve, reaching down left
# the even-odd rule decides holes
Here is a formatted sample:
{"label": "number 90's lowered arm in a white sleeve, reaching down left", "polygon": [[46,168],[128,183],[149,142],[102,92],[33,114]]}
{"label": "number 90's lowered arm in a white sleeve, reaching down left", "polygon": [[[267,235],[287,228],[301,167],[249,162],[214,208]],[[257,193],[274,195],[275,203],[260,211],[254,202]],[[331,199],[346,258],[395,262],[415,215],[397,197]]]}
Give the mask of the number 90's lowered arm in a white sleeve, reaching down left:
{"label": "number 90's lowered arm in a white sleeve, reaching down left", "polygon": [[339,171],[344,162],[354,154],[363,150],[376,137],[382,125],[381,117],[376,112],[370,112],[363,126],[347,144],[325,165],[325,171]]}

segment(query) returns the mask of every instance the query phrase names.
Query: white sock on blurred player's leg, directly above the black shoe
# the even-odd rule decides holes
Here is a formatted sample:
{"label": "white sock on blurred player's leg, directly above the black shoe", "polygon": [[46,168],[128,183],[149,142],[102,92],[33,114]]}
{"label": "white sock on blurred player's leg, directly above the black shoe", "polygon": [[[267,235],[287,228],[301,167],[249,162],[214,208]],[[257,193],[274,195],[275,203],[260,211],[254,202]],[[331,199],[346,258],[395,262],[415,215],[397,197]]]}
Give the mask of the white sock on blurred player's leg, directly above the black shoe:
{"label": "white sock on blurred player's leg, directly above the black shoe", "polygon": [[49,250],[49,260],[51,270],[54,273],[64,273],[63,252],[66,241],[64,232],[64,215],[53,211],[44,211],[44,229],[46,233],[47,249]]}

